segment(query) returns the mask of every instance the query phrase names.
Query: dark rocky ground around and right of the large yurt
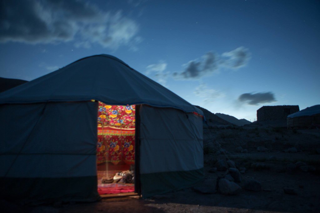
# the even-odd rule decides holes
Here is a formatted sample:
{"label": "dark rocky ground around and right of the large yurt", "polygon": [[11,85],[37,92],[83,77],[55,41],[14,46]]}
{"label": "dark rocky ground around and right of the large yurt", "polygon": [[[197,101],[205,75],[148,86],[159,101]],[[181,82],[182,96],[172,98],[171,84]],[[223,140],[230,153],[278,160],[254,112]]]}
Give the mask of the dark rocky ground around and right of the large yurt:
{"label": "dark rocky ground around and right of the large yurt", "polygon": [[320,130],[269,125],[204,129],[205,180],[150,199],[21,206],[1,212],[320,212]]}

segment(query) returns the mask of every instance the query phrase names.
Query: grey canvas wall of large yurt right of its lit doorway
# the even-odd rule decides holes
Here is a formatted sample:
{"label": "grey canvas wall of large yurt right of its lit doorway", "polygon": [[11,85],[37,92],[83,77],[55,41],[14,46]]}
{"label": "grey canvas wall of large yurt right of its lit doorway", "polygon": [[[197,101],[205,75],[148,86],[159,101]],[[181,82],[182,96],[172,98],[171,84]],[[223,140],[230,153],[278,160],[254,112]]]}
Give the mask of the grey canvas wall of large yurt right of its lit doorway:
{"label": "grey canvas wall of large yurt right of its lit doorway", "polygon": [[140,119],[143,197],[185,188],[204,179],[200,116],[143,105]]}

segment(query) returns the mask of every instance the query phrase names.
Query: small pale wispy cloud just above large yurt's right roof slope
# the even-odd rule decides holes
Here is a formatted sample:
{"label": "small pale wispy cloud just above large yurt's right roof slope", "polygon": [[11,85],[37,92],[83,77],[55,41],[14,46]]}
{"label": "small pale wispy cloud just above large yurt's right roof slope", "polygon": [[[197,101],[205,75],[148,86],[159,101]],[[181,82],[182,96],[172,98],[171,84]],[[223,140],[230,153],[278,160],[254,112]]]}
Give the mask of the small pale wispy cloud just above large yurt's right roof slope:
{"label": "small pale wispy cloud just above large yurt's right roof slope", "polygon": [[167,68],[167,63],[164,61],[159,61],[158,64],[148,65],[146,67],[146,74],[150,76],[152,79],[156,80],[158,83],[166,86],[168,72],[164,72]]}

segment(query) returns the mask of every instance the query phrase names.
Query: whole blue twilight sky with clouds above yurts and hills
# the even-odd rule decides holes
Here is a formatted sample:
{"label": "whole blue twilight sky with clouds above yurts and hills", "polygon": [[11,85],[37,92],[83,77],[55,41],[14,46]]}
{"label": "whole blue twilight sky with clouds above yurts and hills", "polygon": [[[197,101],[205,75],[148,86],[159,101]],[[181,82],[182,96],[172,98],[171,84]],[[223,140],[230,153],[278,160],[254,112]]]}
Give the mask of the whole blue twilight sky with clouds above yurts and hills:
{"label": "whole blue twilight sky with clouds above yurts and hills", "polygon": [[109,54],[213,113],[320,104],[320,1],[0,0],[0,77]]}

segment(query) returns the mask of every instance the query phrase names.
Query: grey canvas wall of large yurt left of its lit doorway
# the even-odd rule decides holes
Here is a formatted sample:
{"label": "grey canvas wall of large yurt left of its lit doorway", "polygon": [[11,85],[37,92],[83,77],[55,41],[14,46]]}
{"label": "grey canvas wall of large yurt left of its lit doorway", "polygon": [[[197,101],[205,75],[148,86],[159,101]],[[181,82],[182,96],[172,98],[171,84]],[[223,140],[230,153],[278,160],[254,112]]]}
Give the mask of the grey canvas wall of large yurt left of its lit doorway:
{"label": "grey canvas wall of large yurt left of its lit doorway", "polygon": [[93,201],[97,102],[3,104],[0,196]]}

